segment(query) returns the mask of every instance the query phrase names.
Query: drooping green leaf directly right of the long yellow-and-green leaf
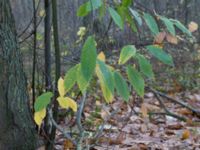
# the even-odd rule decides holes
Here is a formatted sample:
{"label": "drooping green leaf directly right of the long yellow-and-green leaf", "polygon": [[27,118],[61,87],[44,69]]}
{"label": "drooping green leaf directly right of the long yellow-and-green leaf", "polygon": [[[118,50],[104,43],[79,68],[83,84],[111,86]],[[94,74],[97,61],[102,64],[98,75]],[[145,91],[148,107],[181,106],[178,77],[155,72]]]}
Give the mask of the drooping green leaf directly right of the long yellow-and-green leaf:
{"label": "drooping green leaf directly right of the long yellow-and-green leaf", "polygon": [[117,90],[117,93],[126,101],[129,100],[129,89],[126,81],[124,78],[120,75],[119,72],[114,73],[114,79],[115,79],[115,87]]}

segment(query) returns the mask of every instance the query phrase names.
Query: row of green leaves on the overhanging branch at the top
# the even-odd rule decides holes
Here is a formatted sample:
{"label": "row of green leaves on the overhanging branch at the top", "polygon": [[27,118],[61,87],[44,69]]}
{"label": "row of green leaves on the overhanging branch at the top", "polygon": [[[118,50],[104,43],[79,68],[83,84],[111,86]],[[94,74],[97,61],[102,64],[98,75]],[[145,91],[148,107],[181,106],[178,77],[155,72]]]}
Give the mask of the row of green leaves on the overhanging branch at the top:
{"label": "row of green leaves on the overhanging branch at the top", "polygon": [[161,20],[162,23],[166,26],[168,32],[173,36],[176,35],[175,27],[177,27],[188,36],[192,36],[191,32],[180,21],[168,19],[157,14],[154,15],[157,18],[155,19],[154,16],[149,13],[140,13],[137,10],[131,8],[132,4],[132,0],[122,0],[121,2],[114,1],[113,5],[115,8],[112,8],[110,6],[111,4],[109,4],[107,1],[88,0],[86,3],[79,7],[77,16],[87,16],[91,11],[94,10],[99,10],[99,14],[101,15],[106,14],[106,10],[108,10],[115,24],[122,30],[124,29],[124,23],[127,22],[131,26],[131,29],[133,29],[134,32],[137,32],[135,21],[137,22],[138,26],[142,26],[144,19],[152,34],[156,36],[160,32],[156,20]]}

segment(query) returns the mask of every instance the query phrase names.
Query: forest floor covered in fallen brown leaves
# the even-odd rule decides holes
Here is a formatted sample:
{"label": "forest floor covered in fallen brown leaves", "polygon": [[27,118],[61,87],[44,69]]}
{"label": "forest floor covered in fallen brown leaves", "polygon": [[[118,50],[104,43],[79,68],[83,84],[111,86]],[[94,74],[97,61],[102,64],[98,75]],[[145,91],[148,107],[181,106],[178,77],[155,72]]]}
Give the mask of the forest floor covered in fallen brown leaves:
{"label": "forest floor covered in fallen brown leaves", "polygon": [[[133,95],[135,95],[133,93]],[[171,93],[170,97],[200,109],[200,92]],[[88,136],[84,139],[86,145],[95,145],[93,150],[198,150],[200,149],[200,118],[188,109],[163,100],[161,107],[155,93],[148,92],[144,99],[132,96],[129,103],[116,98],[112,104],[106,105],[101,101],[92,102],[88,98],[84,109],[83,125],[88,133],[100,132],[97,139]],[[101,99],[101,98],[99,98]],[[98,109],[97,109],[98,107]],[[185,117],[181,121],[171,115],[166,115],[167,109],[178,116]],[[67,120],[60,121],[65,128]],[[103,123],[102,123],[103,122]],[[103,124],[99,129],[99,124]],[[56,150],[73,149],[70,142],[57,131]]]}

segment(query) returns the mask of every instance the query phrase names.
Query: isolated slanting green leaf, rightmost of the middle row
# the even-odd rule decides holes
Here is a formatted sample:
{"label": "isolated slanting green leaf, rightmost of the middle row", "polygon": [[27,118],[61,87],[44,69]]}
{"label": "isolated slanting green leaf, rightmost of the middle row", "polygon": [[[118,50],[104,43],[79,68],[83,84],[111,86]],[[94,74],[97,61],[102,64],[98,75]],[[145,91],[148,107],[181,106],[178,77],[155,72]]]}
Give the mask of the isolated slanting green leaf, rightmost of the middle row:
{"label": "isolated slanting green leaf, rightmost of the middle row", "polygon": [[172,56],[170,54],[167,54],[163,49],[160,47],[154,46],[154,45],[149,45],[146,47],[149,52],[158,58],[160,61],[162,61],[164,64],[174,66]]}

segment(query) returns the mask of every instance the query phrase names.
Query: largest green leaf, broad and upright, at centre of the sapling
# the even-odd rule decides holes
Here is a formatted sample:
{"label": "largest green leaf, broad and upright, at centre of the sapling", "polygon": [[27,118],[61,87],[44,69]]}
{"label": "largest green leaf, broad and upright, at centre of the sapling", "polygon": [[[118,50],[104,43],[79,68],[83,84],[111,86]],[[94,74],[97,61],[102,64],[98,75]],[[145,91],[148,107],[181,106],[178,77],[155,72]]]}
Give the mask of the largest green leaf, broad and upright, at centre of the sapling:
{"label": "largest green leaf, broad and upright, at centre of the sapling", "polygon": [[88,37],[81,52],[81,72],[87,82],[90,81],[96,67],[96,42],[92,36]]}

